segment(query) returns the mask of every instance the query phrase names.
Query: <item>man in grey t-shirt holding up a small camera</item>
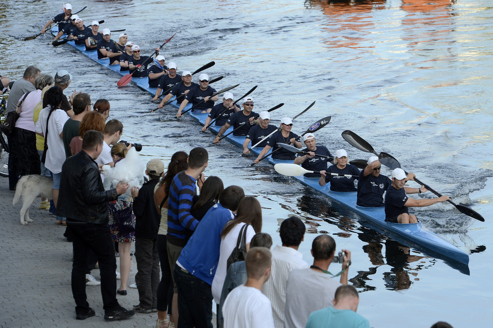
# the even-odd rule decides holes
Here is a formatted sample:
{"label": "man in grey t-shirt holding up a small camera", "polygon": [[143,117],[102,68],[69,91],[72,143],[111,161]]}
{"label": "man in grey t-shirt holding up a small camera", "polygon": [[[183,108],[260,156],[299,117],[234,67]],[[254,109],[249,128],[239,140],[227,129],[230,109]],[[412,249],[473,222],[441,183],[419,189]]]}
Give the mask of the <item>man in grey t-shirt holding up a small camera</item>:
{"label": "man in grey t-shirt holding up a small camera", "polygon": [[[286,283],[286,328],[304,327],[313,311],[333,306],[335,291],[348,284],[351,252],[342,250],[335,256],[335,240],[329,235],[317,236],[312,242],[313,265],[309,269],[293,270]],[[342,271],[330,273],[331,263],[342,263]],[[339,281],[335,277],[340,275]]]}

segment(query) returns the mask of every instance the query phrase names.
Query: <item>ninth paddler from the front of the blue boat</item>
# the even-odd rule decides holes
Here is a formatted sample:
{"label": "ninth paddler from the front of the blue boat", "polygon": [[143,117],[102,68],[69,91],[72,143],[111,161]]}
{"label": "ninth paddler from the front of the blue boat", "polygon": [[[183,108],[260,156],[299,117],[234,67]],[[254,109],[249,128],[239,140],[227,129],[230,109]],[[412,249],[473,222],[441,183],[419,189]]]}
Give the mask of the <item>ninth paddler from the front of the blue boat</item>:
{"label": "ninth paddler from the front of the blue boat", "polygon": [[217,95],[212,97],[214,93],[216,93],[216,89],[209,86],[209,76],[205,73],[200,74],[199,87],[190,90],[190,92],[186,94],[185,99],[183,99],[180,104],[180,108],[178,109],[176,117],[181,116],[181,111],[190,101],[192,102],[193,106],[201,103],[192,110],[192,113],[210,113],[212,108],[214,107],[214,101],[219,100],[219,97]]}

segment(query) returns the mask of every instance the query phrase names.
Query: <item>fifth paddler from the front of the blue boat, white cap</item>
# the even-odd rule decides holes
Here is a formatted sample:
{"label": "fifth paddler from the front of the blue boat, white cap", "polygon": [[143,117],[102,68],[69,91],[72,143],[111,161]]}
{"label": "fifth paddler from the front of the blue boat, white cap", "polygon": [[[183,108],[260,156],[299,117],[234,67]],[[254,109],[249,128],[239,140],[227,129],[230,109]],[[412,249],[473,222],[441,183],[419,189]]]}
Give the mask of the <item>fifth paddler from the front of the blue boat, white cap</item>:
{"label": "fifth paddler from the front of the blue boat, white cap", "polygon": [[[281,118],[281,129],[271,135],[267,140],[267,145],[262,149],[258,157],[255,159],[254,163],[258,163],[260,158],[266,155],[271,148],[273,148],[272,158],[274,159],[283,159],[283,160],[293,160],[295,158],[295,154],[277,146],[277,143],[292,145],[296,148],[301,148],[301,142],[297,141],[299,136],[296,133],[291,132],[293,128],[293,120],[290,117],[282,117]],[[279,149],[279,150],[277,150]]]}

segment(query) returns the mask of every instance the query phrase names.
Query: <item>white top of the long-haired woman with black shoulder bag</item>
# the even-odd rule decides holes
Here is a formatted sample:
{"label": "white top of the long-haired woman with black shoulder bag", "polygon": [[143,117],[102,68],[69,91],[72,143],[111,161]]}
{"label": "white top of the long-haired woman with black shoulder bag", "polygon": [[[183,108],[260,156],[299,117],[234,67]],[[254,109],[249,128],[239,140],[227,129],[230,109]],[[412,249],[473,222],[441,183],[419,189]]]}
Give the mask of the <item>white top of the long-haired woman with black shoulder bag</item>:
{"label": "white top of the long-haired woman with black shoulder bag", "polygon": [[[236,247],[238,242],[238,235],[240,234],[241,228],[245,223],[241,222],[236,224],[236,226],[227,233],[226,236],[221,238],[221,247],[219,249],[219,263],[217,264],[216,274],[214,275],[214,280],[212,281],[212,296],[214,296],[214,301],[219,304],[221,300],[222,285],[224,284],[224,279],[226,279],[226,267],[227,259],[230,257],[231,253]],[[247,228],[247,238],[245,243],[250,243],[253,236],[255,236],[255,230],[252,226]]]}

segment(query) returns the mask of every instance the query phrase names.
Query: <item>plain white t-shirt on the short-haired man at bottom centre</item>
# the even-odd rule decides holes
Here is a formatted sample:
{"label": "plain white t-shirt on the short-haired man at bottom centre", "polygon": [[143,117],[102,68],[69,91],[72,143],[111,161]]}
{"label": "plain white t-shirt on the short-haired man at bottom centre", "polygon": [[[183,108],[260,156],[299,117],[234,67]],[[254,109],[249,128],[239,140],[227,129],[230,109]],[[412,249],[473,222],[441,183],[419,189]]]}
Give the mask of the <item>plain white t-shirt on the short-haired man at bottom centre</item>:
{"label": "plain white t-shirt on the short-haired man at bottom centre", "polygon": [[227,295],[222,307],[224,328],[272,328],[269,299],[258,289],[239,285]]}

